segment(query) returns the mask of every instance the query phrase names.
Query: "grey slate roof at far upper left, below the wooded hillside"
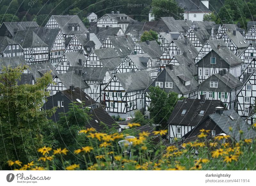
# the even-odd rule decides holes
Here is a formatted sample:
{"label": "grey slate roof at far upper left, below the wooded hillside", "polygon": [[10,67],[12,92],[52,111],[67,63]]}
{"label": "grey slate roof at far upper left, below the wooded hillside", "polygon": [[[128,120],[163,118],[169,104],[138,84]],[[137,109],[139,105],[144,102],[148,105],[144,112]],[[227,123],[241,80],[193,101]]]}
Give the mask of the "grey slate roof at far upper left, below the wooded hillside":
{"label": "grey slate roof at far upper left, below the wooded hillside", "polygon": [[14,36],[18,30],[25,30],[26,28],[39,26],[36,21],[3,22],[2,25],[7,27],[12,36]]}

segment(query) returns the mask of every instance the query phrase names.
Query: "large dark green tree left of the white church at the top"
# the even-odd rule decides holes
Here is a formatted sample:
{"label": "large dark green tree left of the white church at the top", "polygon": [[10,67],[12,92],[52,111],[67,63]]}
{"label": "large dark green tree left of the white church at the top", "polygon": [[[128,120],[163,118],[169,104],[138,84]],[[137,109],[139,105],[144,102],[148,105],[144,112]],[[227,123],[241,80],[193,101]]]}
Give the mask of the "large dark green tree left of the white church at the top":
{"label": "large dark green tree left of the white church at the top", "polygon": [[151,3],[155,19],[161,17],[173,17],[174,19],[184,19],[184,9],[175,0],[153,0]]}

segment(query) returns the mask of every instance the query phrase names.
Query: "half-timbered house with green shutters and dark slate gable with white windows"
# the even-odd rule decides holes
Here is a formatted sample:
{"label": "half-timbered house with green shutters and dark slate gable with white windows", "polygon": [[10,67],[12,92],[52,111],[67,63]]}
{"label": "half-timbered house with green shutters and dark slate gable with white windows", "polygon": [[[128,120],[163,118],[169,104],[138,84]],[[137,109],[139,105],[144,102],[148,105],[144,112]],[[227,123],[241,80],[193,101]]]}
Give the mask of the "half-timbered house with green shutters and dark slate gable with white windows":
{"label": "half-timbered house with green shutters and dark slate gable with white windows", "polygon": [[207,100],[221,100],[228,108],[235,108],[236,94],[243,86],[243,83],[226,70],[212,74],[205,79],[198,87],[198,97],[204,95]]}

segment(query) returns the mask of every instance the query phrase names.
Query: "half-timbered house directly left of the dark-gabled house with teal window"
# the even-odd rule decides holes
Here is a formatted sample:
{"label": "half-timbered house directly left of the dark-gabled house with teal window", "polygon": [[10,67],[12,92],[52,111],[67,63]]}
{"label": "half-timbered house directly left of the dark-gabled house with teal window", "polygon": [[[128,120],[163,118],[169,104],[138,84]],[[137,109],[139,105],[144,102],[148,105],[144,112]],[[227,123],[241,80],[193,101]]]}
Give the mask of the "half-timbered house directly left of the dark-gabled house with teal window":
{"label": "half-timbered house directly left of the dark-gabled house with teal window", "polygon": [[192,59],[197,54],[196,48],[187,38],[181,40],[172,40],[162,55],[159,57],[160,67],[164,68],[171,61],[173,56],[180,55],[183,52],[187,52],[187,56]]}

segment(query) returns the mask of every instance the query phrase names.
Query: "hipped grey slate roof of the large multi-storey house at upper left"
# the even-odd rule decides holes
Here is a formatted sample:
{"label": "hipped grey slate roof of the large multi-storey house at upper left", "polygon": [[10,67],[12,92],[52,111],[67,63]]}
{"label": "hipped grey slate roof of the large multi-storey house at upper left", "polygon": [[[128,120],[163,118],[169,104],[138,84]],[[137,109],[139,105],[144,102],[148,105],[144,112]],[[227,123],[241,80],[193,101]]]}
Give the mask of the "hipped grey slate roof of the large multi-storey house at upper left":
{"label": "hipped grey slate roof of the large multi-storey house at upper left", "polygon": [[12,38],[21,47],[49,47],[33,30],[20,30]]}

